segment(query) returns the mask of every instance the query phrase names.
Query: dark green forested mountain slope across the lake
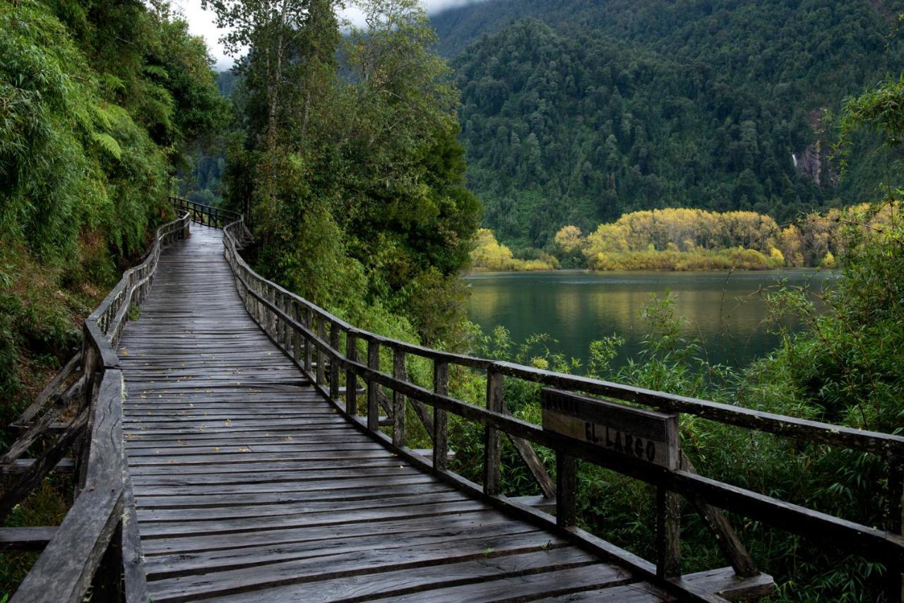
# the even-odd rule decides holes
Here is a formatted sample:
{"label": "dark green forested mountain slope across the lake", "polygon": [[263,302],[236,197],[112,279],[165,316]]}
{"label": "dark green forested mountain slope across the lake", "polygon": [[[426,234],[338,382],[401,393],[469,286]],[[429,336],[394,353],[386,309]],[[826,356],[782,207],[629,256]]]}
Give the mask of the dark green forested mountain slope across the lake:
{"label": "dark green forested mountain slope across the lake", "polygon": [[839,182],[826,118],[898,73],[898,4],[491,0],[434,15],[485,225],[539,248],[640,209],[786,221],[874,197],[888,157],[867,141]]}

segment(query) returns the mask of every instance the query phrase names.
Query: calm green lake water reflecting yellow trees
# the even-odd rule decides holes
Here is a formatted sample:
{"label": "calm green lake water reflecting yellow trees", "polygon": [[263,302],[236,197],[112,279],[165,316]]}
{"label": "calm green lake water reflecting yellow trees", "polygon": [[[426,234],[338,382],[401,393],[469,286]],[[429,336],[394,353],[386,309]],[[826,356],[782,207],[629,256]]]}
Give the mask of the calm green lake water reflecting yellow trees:
{"label": "calm green lake water reflecting yellow trees", "polygon": [[[489,333],[503,325],[515,343],[531,334],[556,340],[553,351],[587,360],[589,344],[608,334],[625,338],[614,365],[638,358],[645,323],[640,309],[652,294],[675,296],[689,337],[702,340],[711,363],[744,366],[775,348],[761,290],[807,285],[820,291],[837,272],[789,269],[735,272],[483,272],[466,277],[472,287],[471,320]],[[794,322],[786,323],[795,329]]]}

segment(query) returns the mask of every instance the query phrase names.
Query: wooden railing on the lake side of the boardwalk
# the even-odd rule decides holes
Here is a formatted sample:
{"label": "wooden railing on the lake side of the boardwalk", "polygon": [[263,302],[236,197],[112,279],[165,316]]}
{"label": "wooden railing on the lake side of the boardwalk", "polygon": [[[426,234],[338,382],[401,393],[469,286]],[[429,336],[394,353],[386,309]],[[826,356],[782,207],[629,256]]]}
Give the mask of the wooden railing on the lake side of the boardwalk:
{"label": "wooden railing on the lake side of the boardwalk", "polygon": [[[890,600],[901,600],[901,575],[904,570],[904,538],[901,536],[904,438],[544,371],[515,363],[440,352],[363,331],[250,269],[239,254],[243,231],[241,219],[226,225],[224,252],[250,316],[297,363],[315,387],[333,400],[336,408],[355,425],[447,483],[471,495],[483,497],[491,504],[533,523],[557,529],[591,551],[617,558],[642,575],[658,578],[660,583],[669,585],[684,598],[709,600],[711,595],[707,594],[705,588],[698,587],[699,582],[692,583],[687,577],[680,576],[681,497],[687,499],[701,514],[703,523],[711,530],[735,574],[741,579],[748,579],[747,584],[752,585],[747,590],[738,589],[733,593],[735,595],[749,597],[764,594],[771,588],[771,579],[757,579],[762,576],[720,510],[746,515],[788,532],[825,542],[835,550],[855,552],[868,560],[880,561],[887,568]],[[389,351],[389,354],[384,354],[384,357],[388,355],[391,358],[391,365],[387,370],[381,370],[381,350]],[[410,380],[407,368],[412,359],[432,363],[431,387],[423,387]],[[485,406],[457,400],[449,394],[451,367],[485,373]],[[605,443],[594,441],[596,437],[591,438],[590,429],[599,422],[595,423],[592,417],[575,417],[584,419],[581,424],[588,429],[586,438],[574,437],[561,430],[544,429],[516,419],[506,408],[504,400],[503,384],[506,378],[546,386],[547,389],[543,390],[544,397],[558,395],[551,388],[564,391],[567,398],[574,397],[572,392],[580,392],[651,407],[676,418],[681,413],[686,413],[739,428],[877,455],[886,459],[890,467],[886,496],[887,525],[884,530],[876,529],[700,476],[694,472],[689,459],[678,448],[673,452],[678,454],[679,460],[672,466],[651,463],[643,455],[619,452],[617,447],[607,448]],[[362,390],[359,390],[359,384],[363,385]],[[385,395],[382,388],[388,390],[390,395]],[[587,402],[591,406],[595,403],[603,402]],[[359,416],[359,410],[363,410],[360,404],[366,408],[366,419]],[[408,404],[433,440],[432,454],[429,457],[406,446],[405,409]],[[578,406],[578,402],[575,405]],[[626,405],[622,407],[631,408]],[[381,419],[381,412],[386,413],[386,419]],[[482,484],[469,481],[447,468],[449,412],[473,421],[484,429]],[[391,434],[384,434],[381,425],[391,426]],[[500,492],[502,434],[512,441],[537,479],[543,494],[549,498],[555,497],[555,517]],[[636,443],[636,439],[628,441]],[[534,453],[533,445],[554,451],[557,466],[555,483]],[[675,446],[676,443],[673,442],[672,445]],[[655,563],[618,549],[576,526],[575,459],[595,463],[656,487],[658,554]],[[744,580],[739,580],[739,583],[744,583]]]}

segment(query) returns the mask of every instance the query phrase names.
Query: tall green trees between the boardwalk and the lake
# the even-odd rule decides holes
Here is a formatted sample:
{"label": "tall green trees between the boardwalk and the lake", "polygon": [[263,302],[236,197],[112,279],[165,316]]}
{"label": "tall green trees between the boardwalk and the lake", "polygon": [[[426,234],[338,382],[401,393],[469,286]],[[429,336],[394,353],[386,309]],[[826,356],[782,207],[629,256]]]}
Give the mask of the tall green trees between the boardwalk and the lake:
{"label": "tall green trees between the boardwalk and the lake", "polygon": [[457,272],[480,205],[426,14],[410,0],[364,2],[367,28],[341,39],[330,3],[288,2],[292,18],[211,4],[251,45],[226,181],[227,203],[250,212],[256,268],[337,314],[362,321],[380,306],[423,341],[463,345]]}

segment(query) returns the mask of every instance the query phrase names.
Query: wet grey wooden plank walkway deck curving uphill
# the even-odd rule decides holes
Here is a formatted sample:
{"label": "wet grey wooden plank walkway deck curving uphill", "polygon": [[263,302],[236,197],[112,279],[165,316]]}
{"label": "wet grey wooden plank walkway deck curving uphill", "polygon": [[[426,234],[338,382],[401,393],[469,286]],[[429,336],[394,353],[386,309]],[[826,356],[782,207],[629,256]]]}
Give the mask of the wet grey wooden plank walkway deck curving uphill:
{"label": "wet grey wooden plank walkway deck curving uphill", "polygon": [[221,231],[160,261],[118,351],[155,602],[663,600],[354,429],[251,321]]}

